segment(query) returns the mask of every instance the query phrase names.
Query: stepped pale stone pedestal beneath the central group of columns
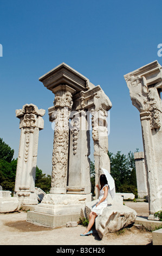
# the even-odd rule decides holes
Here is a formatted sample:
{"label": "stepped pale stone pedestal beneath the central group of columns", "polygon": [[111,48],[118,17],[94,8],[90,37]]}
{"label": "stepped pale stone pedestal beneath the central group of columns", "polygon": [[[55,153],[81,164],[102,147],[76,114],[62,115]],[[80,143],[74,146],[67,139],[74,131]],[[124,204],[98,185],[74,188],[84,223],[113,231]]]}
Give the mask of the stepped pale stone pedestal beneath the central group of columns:
{"label": "stepped pale stone pedestal beneath the central group of columns", "polygon": [[27,221],[51,228],[65,226],[79,221],[82,206],[91,200],[91,194],[46,194],[41,204],[27,213]]}

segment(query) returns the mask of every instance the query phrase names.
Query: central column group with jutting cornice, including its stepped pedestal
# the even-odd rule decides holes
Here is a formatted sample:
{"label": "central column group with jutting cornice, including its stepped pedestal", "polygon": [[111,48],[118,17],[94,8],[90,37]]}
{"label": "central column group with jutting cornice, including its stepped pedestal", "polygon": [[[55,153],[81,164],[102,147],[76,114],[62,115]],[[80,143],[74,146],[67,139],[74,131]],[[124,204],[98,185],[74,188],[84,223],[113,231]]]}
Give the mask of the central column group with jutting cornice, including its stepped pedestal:
{"label": "central column group with jutting cornice, including its stepped pedestal", "polygon": [[48,109],[54,127],[53,170],[49,194],[35,211],[28,212],[27,220],[56,227],[78,220],[82,206],[92,200],[91,125],[96,184],[101,168],[110,172],[107,112],[112,103],[100,86],[94,86],[65,63],[40,77],[40,81],[55,94],[54,106]]}

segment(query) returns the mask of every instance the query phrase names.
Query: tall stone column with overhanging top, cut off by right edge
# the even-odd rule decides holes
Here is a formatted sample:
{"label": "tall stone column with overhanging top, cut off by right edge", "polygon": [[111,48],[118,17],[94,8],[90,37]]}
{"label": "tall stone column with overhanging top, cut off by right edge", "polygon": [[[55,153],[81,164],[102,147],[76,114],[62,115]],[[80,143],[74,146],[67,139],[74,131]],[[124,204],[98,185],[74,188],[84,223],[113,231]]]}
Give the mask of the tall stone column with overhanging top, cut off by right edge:
{"label": "tall stone column with overhanging top, cut off by right edge", "polygon": [[162,197],[162,90],[161,66],[152,62],[124,76],[132,104],[140,112],[150,216],[161,210]]}

